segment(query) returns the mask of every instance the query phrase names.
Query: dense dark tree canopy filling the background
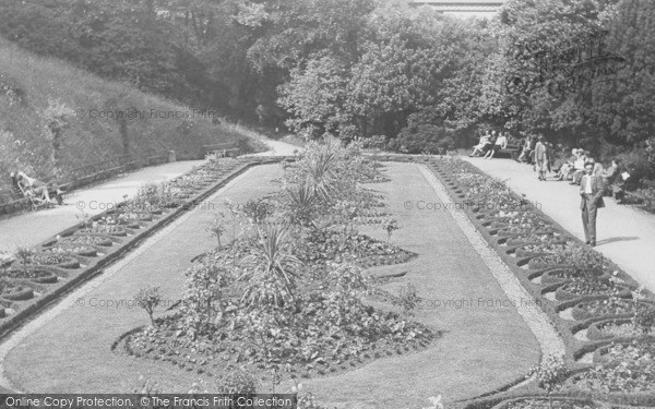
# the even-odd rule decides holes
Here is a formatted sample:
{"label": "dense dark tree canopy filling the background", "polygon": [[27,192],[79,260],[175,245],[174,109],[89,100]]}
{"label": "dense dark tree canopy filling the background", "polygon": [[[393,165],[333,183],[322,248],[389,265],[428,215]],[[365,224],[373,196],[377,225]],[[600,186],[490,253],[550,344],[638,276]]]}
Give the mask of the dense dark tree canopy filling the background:
{"label": "dense dark tree canopy filling the background", "polygon": [[509,0],[468,21],[401,0],[0,0],[0,34],[37,52],[226,116],[412,152],[485,127],[643,143],[654,19],[646,0]]}

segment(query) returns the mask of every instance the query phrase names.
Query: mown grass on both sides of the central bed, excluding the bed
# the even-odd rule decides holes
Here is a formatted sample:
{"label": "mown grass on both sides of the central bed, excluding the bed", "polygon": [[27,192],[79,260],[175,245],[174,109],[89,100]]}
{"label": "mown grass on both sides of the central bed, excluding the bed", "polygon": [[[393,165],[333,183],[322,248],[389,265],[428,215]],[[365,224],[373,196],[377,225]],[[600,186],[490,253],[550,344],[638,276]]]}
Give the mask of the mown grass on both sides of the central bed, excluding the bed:
{"label": "mown grass on both sides of the central bed, excluding the bed", "polygon": [[[489,265],[496,265],[487,264],[489,261],[479,255],[479,249],[474,248],[449,212],[417,208],[419,201],[441,203],[434,181],[426,179],[419,166],[386,165],[393,181],[371,187],[388,194],[390,213],[403,226],[394,233],[393,242],[419,257],[371,272],[408,272],[385,288],[396,293],[401,285],[413,282],[424,298],[416,318],[444,334],[428,350],[307,381],[306,388],[321,402],[344,408],[412,408],[426,406],[429,396],[442,394],[448,402],[523,377],[539,361],[540,344],[490,270]],[[243,202],[264,195],[276,189],[270,181],[281,173],[277,165],[255,167],[209,201],[221,204],[229,197]],[[407,201],[413,203],[412,208],[405,207]],[[135,360],[110,351],[121,334],[147,323],[143,311],[90,304],[131,300],[148,285],[160,286],[166,300],[179,299],[189,260],[214,245],[214,239],[204,231],[214,213],[206,207],[184,214],[0,345],[5,381],[23,392],[120,393],[140,386],[138,380],[143,375],[157,382],[163,390],[188,390],[198,375],[169,363]],[[361,230],[386,238],[379,226]],[[281,385],[277,390],[288,386]],[[212,389],[211,383],[207,389]]]}

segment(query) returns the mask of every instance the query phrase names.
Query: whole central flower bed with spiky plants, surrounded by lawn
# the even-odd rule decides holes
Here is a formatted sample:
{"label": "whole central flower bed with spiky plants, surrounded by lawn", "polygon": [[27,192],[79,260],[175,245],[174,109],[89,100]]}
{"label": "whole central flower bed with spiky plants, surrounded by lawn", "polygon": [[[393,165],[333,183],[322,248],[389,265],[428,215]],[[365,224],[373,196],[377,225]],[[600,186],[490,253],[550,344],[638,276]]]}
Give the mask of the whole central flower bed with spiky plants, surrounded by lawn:
{"label": "whole central flower bed with spiky plants, surrounded by lawn", "polygon": [[242,228],[228,244],[221,241],[222,219],[214,220],[209,230],[218,249],[187,270],[179,310],[127,336],[119,351],[212,377],[242,369],[260,380],[272,371],[289,380],[350,371],[438,338],[405,310],[364,302],[372,284],[362,266],[416,255],[390,243],[398,228],[392,219],[386,242],[357,232],[355,216],[385,206],[357,183],[370,173],[361,176],[347,149],[314,149],[286,169],[273,206],[230,206]]}

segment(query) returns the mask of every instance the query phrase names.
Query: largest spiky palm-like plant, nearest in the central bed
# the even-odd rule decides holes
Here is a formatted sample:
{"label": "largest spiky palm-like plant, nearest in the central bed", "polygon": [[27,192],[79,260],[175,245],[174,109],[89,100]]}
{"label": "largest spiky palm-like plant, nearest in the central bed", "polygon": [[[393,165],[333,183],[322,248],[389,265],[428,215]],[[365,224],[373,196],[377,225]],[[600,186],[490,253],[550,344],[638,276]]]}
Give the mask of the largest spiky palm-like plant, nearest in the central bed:
{"label": "largest spiky palm-like plant, nearest in the central bed", "polygon": [[248,281],[242,300],[249,305],[283,306],[295,302],[296,278],[301,266],[290,252],[289,230],[278,225],[258,227],[258,241],[249,249],[239,280]]}

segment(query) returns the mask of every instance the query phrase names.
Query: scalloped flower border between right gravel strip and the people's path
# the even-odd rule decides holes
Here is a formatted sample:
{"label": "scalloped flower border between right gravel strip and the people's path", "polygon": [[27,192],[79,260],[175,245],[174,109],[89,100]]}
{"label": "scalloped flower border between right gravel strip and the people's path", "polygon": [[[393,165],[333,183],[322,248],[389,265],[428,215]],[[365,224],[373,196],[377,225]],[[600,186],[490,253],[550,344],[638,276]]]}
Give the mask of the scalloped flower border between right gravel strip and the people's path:
{"label": "scalloped flower border between right gravel strip and the people's path", "polygon": [[[588,368],[584,362],[591,359],[590,351],[597,348],[595,342],[600,339],[609,339],[605,336],[596,337],[595,334],[600,333],[599,326],[604,332],[611,332],[610,336],[615,339],[626,339],[624,337],[634,334],[627,330],[627,320],[631,320],[634,315],[634,305],[642,311],[650,304],[645,301],[634,302],[630,299],[633,296],[633,289],[636,288],[636,282],[630,276],[603,257],[602,254],[560,230],[557,224],[549,220],[537,208],[526,206],[522,197],[513,194],[497,180],[481,173],[471,164],[451,157],[434,159],[431,166],[438,169],[436,175],[442,180],[449,179],[445,180],[445,184],[450,187],[449,193],[453,197],[458,196],[460,181],[466,180],[468,187],[465,192],[466,200],[478,207],[473,212],[467,212],[469,218],[483,232],[483,237],[489,244],[505,258],[520,281],[528,291],[533,292],[539,301],[538,304],[544,306],[544,311],[556,324],[567,347],[564,362],[569,369],[575,372]],[[472,175],[477,176],[472,177]],[[514,207],[512,208],[512,206]],[[505,227],[500,228],[502,225]],[[515,256],[515,258],[512,261],[507,258],[508,256]],[[582,272],[594,272],[594,274],[585,275],[581,274]],[[648,293],[646,298],[653,299],[653,294]],[[604,323],[607,323],[611,318],[623,318],[623,321],[620,321],[616,328],[612,324],[600,325],[597,322],[590,322],[590,320],[603,320]],[[584,329],[584,334],[579,335],[580,329]],[[583,356],[584,362],[577,361]],[[635,366],[633,370],[633,374],[638,376],[644,375],[644,371],[652,373],[650,366]],[[648,382],[652,380],[648,378]],[[571,387],[577,392],[583,390],[583,394],[586,395],[582,396],[591,396],[588,388],[581,388],[576,385]],[[620,389],[620,386],[618,388]],[[516,397],[521,396],[521,392],[532,393],[534,390],[544,390],[538,388],[535,380],[501,395]],[[603,399],[608,398],[612,404],[655,401],[655,396],[651,396],[655,393],[653,388],[647,390],[651,393],[648,396],[631,395],[646,393],[645,390],[647,389],[642,390],[627,386],[622,390],[626,395],[619,394],[609,397],[603,395]],[[568,396],[570,392],[567,389],[562,395]],[[571,396],[581,395],[571,393]],[[561,398],[561,396],[553,397],[553,406],[559,405],[557,399]],[[539,401],[535,401],[535,399]],[[549,407],[544,397],[528,400],[531,399],[523,397],[514,400],[512,405]],[[509,401],[504,404],[509,404]],[[588,405],[593,408],[599,405],[584,399],[579,404],[582,407]],[[469,402],[462,402],[457,407],[489,409],[493,405],[499,405],[498,399],[481,397]],[[567,402],[565,405],[571,404]],[[510,406],[500,405],[498,407]]]}

